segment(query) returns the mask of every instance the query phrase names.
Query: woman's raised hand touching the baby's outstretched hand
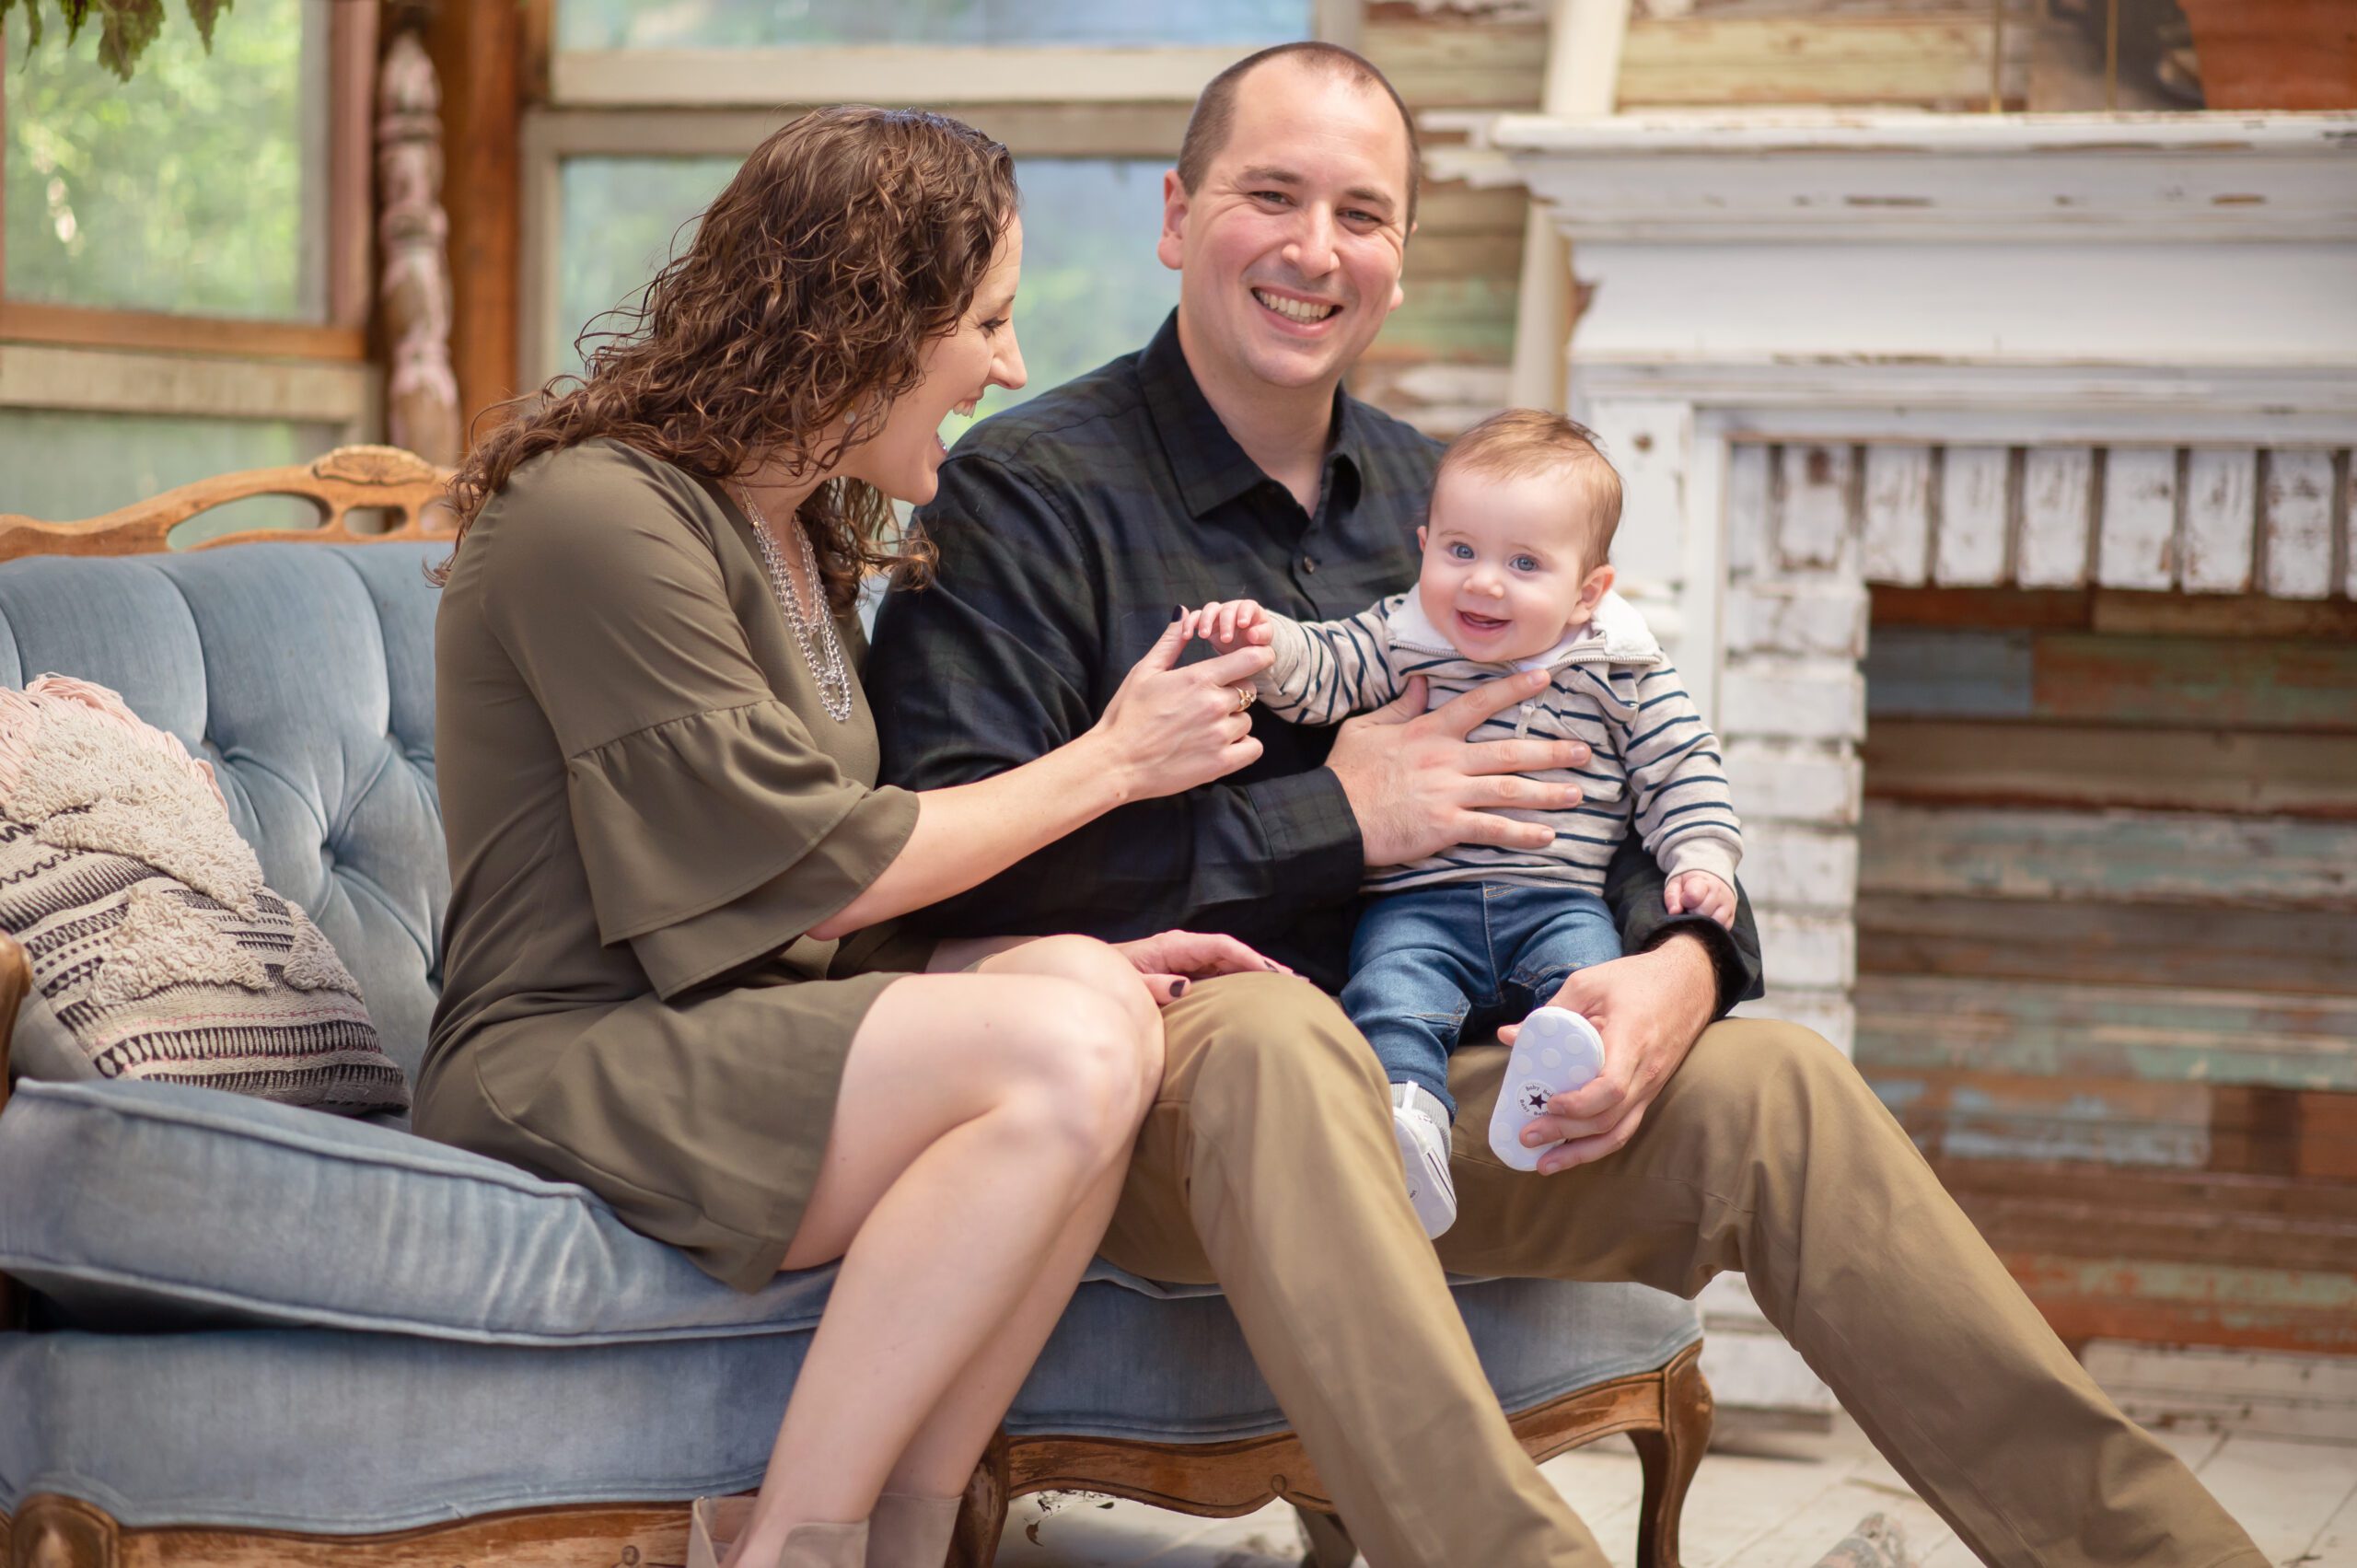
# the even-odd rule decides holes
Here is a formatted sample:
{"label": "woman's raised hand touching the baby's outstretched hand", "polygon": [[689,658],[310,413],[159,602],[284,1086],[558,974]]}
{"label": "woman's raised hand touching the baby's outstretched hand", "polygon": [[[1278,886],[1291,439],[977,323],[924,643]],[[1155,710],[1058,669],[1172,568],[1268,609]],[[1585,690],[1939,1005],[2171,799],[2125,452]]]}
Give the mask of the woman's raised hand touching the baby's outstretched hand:
{"label": "woman's raised hand touching the baby's outstretched hand", "polygon": [[1089,731],[1113,750],[1113,766],[1127,778],[1129,799],[1178,795],[1261,757],[1244,698],[1252,677],[1275,655],[1268,648],[1237,648],[1178,670],[1186,632],[1186,622],[1171,620]]}

